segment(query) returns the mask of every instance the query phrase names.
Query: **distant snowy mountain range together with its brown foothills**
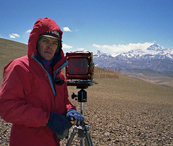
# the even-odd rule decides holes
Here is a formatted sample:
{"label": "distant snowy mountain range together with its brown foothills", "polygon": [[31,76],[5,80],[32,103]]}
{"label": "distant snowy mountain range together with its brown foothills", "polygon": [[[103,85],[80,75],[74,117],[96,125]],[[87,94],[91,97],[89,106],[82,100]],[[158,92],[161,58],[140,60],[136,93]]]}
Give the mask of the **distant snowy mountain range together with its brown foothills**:
{"label": "distant snowy mountain range together with its brown foothills", "polygon": [[120,54],[94,53],[94,64],[107,70],[150,83],[173,88],[173,50],[153,44]]}

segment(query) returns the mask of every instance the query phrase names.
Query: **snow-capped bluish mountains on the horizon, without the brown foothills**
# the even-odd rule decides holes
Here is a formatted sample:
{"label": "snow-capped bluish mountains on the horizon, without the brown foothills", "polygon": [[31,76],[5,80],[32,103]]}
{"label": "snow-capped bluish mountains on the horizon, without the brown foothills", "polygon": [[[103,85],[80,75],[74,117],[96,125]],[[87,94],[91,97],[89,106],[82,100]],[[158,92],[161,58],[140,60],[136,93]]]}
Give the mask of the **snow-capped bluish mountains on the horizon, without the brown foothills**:
{"label": "snow-capped bluish mountains on the horizon, without the brown foothills", "polygon": [[102,68],[152,69],[173,71],[173,50],[153,44],[146,49],[131,50],[121,54],[94,53],[94,64]]}

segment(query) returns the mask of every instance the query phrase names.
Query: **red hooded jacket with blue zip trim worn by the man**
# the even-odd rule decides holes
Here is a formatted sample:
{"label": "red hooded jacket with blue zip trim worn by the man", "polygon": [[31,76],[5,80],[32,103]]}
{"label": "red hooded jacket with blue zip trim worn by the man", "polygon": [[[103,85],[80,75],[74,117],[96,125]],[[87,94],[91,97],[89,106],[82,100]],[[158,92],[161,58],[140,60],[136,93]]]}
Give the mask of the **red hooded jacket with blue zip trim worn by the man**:
{"label": "red hooded jacket with blue zip trim worn by the man", "polygon": [[[36,59],[40,34],[62,31],[55,21],[44,18],[34,24],[28,41],[28,54],[4,67],[0,88],[0,116],[12,123],[10,146],[57,146],[57,138],[46,127],[50,112],[65,115],[75,108],[68,100],[67,85],[54,85],[52,77]],[[62,45],[61,45],[62,46]],[[54,76],[65,80],[59,70],[67,64],[61,50],[54,56]]]}

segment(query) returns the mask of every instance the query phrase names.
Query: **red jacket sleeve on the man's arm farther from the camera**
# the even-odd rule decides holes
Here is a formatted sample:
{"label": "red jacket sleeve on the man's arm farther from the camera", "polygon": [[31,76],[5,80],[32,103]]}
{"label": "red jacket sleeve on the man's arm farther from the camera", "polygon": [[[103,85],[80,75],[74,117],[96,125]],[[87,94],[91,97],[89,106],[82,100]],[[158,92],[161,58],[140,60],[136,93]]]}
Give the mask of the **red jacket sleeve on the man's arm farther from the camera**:
{"label": "red jacket sleeve on the man's arm farther from the camera", "polygon": [[27,127],[46,126],[49,113],[27,103],[29,94],[29,71],[22,63],[15,65],[12,61],[4,68],[0,88],[0,116],[7,122]]}

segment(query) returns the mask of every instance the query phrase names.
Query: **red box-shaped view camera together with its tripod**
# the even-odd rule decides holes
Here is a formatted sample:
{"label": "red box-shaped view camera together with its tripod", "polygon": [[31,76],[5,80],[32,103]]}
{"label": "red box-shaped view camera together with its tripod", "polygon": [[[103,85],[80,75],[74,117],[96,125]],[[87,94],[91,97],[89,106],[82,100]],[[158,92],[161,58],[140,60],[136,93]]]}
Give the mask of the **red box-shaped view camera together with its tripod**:
{"label": "red box-shaped view camera together with its tripod", "polygon": [[[71,52],[66,53],[68,65],[66,66],[66,79],[68,86],[76,86],[81,90],[78,91],[78,95],[72,94],[72,99],[77,99],[81,103],[81,114],[84,115],[84,102],[87,102],[87,92],[84,90],[93,84],[97,84],[93,81],[94,75],[94,63],[93,53],[91,52]],[[77,98],[76,98],[77,97]],[[82,126],[74,126],[67,141],[66,146],[70,146],[73,138],[78,133],[81,138],[80,146],[93,146],[89,127],[86,123]]]}

